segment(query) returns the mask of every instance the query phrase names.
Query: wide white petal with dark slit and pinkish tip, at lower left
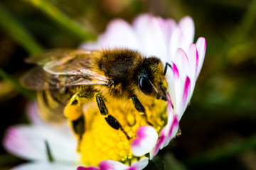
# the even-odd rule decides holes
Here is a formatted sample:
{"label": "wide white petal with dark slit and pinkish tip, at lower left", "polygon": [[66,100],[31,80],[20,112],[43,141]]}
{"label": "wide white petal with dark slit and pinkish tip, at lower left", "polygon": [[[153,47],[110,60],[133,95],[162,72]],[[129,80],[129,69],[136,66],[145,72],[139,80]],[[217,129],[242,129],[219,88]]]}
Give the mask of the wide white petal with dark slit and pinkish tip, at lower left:
{"label": "wide white petal with dark slit and pinkish tip, at lower left", "polygon": [[69,132],[38,125],[20,125],[9,128],[4,138],[4,147],[11,153],[29,160],[48,160],[46,141],[53,159],[77,162],[75,138]]}

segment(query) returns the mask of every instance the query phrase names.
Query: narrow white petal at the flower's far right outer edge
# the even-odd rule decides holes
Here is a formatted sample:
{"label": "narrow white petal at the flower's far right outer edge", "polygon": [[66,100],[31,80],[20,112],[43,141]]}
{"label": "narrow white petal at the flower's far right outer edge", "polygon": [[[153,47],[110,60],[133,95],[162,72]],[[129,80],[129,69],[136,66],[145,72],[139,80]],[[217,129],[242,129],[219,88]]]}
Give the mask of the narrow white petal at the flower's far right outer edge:
{"label": "narrow white petal at the flower's far right outer edge", "polygon": [[198,49],[198,72],[196,75],[197,78],[199,73],[201,72],[203,60],[206,55],[206,39],[198,38],[198,40],[196,41],[196,48]]}

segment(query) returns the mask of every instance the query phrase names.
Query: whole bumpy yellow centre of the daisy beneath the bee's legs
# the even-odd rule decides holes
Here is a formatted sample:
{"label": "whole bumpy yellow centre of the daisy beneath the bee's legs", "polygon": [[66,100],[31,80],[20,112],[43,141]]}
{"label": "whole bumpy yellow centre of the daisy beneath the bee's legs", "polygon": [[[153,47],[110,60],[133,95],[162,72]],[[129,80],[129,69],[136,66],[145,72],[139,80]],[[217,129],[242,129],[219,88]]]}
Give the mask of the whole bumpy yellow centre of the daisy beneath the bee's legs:
{"label": "whole bumpy yellow centre of the daisy beneath the bee's legs", "polygon": [[[78,142],[81,160],[87,166],[98,166],[102,160],[106,159],[116,160],[127,165],[131,164],[140,159],[131,152],[132,141],[136,137],[137,129],[142,125],[148,125],[148,123],[144,116],[135,109],[132,112],[127,112],[126,108],[120,107],[122,103],[120,105],[106,103],[106,106],[108,113],[117,119],[129,137],[122,130],[112,128],[97,107],[87,109],[85,133]],[[149,105],[145,109],[149,122],[153,123],[156,132],[159,132],[166,125],[166,102],[157,100],[154,107]]]}

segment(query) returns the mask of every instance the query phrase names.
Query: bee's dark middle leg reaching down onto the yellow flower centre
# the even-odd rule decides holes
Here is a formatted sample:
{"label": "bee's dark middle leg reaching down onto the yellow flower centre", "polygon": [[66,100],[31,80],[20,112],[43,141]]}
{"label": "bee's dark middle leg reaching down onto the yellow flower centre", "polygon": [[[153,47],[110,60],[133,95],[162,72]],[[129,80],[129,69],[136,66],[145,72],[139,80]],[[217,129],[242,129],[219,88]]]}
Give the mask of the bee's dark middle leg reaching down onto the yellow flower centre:
{"label": "bee's dark middle leg reaching down onto the yellow flower centre", "polygon": [[130,137],[127,135],[127,132],[125,132],[124,129],[122,128],[122,125],[120,125],[120,123],[117,121],[116,118],[114,118],[112,115],[108,113],[107,106],[105,105],[105,102],[103,101],[103,98],[100,96],[100,94],[96,94],[95,97],[96,97],[97,106],[100,110],[100,114],[105,116],[105,120],[107,124],[109,124],[115,130],[120,129],[122,132],[124,132],[124,135],[126,135],[127,140],[130,140]]}

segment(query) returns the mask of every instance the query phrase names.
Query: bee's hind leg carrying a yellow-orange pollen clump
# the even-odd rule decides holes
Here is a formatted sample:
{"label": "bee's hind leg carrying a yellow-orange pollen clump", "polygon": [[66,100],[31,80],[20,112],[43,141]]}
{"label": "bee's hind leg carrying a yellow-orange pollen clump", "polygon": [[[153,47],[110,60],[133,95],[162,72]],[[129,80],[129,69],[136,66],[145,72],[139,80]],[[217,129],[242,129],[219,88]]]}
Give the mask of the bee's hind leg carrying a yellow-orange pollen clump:
{"label": "bee's hind leg carrying a yellow-orange pollen clump", "polygon": [[75,94],[65,106],[64,115],[70,120],[73,131],[78,135],[78,140],[82,140],[85,132],[85,117],[82,112],[82,103],[84,95],[82,93]]}

